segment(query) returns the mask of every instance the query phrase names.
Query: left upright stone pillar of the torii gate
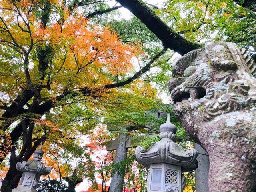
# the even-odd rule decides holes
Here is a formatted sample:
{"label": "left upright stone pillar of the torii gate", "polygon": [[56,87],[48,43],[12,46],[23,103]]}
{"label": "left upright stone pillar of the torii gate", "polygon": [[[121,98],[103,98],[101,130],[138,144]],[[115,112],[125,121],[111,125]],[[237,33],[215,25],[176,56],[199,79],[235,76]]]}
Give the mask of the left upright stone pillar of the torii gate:
{"label": "left upright stone pillar of the torii gate", "polygon": [[[114,164],[118,164],[127,158],[127,148],[126,144],[127,134],[124,132],[120,132],[118,137],[118,145],[116,148],[116,157]],[[111,178],[110,190],[109,192],[122,192],[123,184],[124,184],[124,174],[125,174],[125,166],[118,166],[118,168],[114,168],[113,176]]]}

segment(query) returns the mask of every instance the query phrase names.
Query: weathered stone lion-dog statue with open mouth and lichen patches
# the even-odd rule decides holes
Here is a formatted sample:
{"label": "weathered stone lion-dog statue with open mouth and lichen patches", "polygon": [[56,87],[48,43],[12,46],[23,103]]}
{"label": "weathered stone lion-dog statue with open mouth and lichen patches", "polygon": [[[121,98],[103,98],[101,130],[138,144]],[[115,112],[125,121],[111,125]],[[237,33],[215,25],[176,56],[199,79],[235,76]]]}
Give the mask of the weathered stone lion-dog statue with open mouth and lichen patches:
{"label": "weathered stone lion-dog statue with open mouth and lichen patches", "polygon": [[186,132],[210,157],[210,192],[256,192],[256,64],[228,42],[184,55],[168,87]]}

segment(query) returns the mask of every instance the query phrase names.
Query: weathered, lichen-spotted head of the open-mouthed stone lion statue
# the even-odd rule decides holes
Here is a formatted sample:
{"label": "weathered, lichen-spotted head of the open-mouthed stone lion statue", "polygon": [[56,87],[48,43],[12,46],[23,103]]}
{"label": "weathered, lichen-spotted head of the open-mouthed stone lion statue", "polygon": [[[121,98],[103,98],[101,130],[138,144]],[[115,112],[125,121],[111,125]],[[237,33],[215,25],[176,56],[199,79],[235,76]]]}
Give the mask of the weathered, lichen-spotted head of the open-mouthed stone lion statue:
{"label": "weathered, lichen-spotted head of the open-mouthed stone lion statue", "polygon": [[185,123],[209,122],[256,100],[256,64],[234,43],[213,42],[189,52],[173,75],[168,84],[172,104]]}

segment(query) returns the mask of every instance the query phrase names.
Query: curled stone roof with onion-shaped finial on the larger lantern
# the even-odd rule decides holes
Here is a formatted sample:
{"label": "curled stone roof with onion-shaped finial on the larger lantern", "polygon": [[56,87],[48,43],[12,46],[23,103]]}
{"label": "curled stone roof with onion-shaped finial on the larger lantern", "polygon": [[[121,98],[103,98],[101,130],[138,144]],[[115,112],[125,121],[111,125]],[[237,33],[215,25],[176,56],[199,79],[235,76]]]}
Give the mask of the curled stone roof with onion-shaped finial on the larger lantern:
{"label": "curled stone roof with onion-shaped finial on the larger lantern", "polygon": [[149,149],[145,150],[143,146],[136,148],[136,159],[139,164],[150,167],[150,164],[167,163],[181,166],[182,172],[195,170],[198,167],[196,160],[198,152],[195,149],[184,150],[184,148],[175,143],[176,126],[170,122],[168,114],[166,123],[160,126],[160,141],[154,143]]}

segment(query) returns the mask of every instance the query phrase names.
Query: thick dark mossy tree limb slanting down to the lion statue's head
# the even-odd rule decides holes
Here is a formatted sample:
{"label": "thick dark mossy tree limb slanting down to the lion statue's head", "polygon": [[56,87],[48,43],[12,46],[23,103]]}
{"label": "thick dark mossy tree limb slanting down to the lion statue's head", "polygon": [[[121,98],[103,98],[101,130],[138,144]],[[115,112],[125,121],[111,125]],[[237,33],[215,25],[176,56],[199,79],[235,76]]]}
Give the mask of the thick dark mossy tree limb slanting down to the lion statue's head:
{"label": "thick dark mossy tree limb slanting down to the lion statue's head", "polygon": [[166,25],[142,0],[117,0],[140,19],[169,48],[184,55],[200,46],[190,42]]}

